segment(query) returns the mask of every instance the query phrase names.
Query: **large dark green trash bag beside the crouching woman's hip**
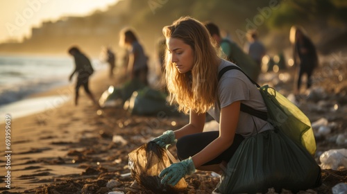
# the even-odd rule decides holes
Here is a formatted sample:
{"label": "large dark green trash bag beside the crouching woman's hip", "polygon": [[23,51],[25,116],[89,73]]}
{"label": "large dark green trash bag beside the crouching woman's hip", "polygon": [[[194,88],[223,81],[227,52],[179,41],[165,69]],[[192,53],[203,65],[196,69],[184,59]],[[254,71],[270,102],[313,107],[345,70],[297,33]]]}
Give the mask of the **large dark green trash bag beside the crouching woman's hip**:
{"label": "large dark green trash bag beside the crouching woman's hip", "polygon": [[242,141],[217,185],[220,193],[293,193],[321,185],[321,168],[305,148],[280,130]]}

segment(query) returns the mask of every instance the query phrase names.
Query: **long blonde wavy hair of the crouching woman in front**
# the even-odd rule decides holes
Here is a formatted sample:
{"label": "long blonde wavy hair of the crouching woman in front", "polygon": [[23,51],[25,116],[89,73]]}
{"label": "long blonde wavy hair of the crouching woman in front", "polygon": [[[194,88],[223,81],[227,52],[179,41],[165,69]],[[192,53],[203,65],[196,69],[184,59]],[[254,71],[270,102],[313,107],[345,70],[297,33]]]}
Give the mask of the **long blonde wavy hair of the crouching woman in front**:
{"label": "long blonde wavy hair of the crouching woman in front", "polygon": [[219,58],[212,38],[205,26],[192,17],[180,17],[171,26],[164,26],[162,33],[168,38],[181,39],[194,53],[192,71],[178,72],[171,62],[169,50],[165,54],[165,79],[170,103],[178,110],[198,114],[207,112],[216,100],[217,69]]}

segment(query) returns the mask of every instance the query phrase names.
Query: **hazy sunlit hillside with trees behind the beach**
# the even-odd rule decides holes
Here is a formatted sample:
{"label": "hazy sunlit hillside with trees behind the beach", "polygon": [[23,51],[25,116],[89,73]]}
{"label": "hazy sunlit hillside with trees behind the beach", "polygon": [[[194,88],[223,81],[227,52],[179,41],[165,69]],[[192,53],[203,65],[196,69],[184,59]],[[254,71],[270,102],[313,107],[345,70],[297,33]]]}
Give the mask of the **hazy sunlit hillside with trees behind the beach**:
{"label": "hazy sunlit hillside with trees behind the beach", "polygon": [[[343,1],[279,2],[123,0],[109,6],[105,12],[97,11],[86,17],[65,17],[56,22],[45,21],[40,28],[33,28],[32,37],[21,44],[0,44],[0,52],[66,54],[67,48],[76,44],[81,46],[85,53],[96,57],[102,46],[110,45],[117,52],[121,52],[118,46],[119,30],[130,26],[135,28],[146,53],[153,57],[155,44],[162,35],[162,27],[185,15],[201,21],[213,21],[221,30],[230,33],[240,46],[246,41],[246,30],[255,28],[268,50],[274,53],[289,46],[288,33],[292,24],[305,27],[310,24],[307,31],[314,30],[314,33],[311,32],[312,38],[322,48],[327,48],[329,42],[326,40],[344,35],[347,31],[347,19],[344,20],[347,5]],[[326,12],[323,12],[324,5]],[[332,21],[336,21],[336,24],[332,24]],[[332,37],[321,37],[330,34]]]}

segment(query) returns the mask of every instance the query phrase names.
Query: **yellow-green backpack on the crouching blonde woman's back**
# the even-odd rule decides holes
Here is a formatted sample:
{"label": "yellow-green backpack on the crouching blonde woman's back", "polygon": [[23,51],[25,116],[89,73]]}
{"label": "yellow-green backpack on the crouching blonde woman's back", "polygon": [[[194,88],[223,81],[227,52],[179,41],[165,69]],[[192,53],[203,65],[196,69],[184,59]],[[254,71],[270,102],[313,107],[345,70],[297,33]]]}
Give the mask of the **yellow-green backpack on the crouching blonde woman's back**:
{"label": "yellow-green backpack on the crouching blonde woman's back", "polygon": [[316,152],[310,119],[285,96],[268,85],[260,87],[268,112],[268,121],[289,138],[301,145],[311,155]]}

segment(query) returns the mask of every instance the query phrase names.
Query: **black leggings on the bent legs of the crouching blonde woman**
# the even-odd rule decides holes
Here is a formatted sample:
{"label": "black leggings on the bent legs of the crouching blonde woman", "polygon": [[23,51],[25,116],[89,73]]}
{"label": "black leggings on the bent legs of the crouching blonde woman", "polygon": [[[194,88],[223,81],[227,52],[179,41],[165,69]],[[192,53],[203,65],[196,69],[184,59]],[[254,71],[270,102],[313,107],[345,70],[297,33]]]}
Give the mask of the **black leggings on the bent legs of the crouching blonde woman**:
{"label": "black leggings on the bent legs of the crouching blonde woman", "polygon": [[[176,143],[178,159],[183,160],[196,155],[196,153],[203,150],[203,148],[214,141],[214,139],[217,139],[218,136],[218,131],[202,132],[198,134],[183,136],[182,138],[178,139]],[[239,145],[243,140],[244,137],[242,135],[235,134],[232,145],[230,145],[227,150],[221,153],[221,155],[203,164],[203,166],[221,164],[222,161],[228,162],[231,159],[232,155],[234,155],[237,148],[239,148]]]}

